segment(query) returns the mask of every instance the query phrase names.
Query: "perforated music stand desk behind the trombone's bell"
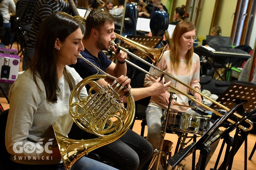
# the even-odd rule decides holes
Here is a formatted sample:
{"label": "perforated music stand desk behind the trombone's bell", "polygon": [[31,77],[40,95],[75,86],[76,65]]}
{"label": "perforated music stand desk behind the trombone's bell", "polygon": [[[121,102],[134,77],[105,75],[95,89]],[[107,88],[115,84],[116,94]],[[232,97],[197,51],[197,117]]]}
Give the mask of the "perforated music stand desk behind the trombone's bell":
{"label": "perforated music stand desk behind the trombone's bell", "polygon": [[[156,46],[163,39],[163,37],[148,37],[148,36],[139,36],[139,35],[127,35],[126,38],[129,38],[133,41],[136,41],[136,43],[139,43],[143,46],[147,46],[147,47],[151,47],[151,48],[156,48]],[[130,52],[132,52],[133,54],[137,55],[140,58],[143,58],[144,60],[147,57],[147,55],[145,53],[141,52],[140,50],[138,50],[124,42],[122,42],[120,44],[120,46],[124,47],[125,49],[128,49]]]}

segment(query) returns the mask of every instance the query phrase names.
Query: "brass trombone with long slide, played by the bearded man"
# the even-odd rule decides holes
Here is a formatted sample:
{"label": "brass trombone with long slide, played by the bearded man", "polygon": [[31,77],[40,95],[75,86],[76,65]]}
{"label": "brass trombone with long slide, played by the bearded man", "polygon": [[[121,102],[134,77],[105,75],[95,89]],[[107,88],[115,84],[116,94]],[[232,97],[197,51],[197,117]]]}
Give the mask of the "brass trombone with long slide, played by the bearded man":
{"label": "brass trombone with long slide, played by the bearded man", "polygon": [[[173,75],[171,75],[171,74],[169,74],[169,73],[167,73],[167,72],[165,72],[165,71],[159,69],[159,68],[157,67],[157,64],[159,63],[159,61],[160,61],[160,59],[161,59],[161,57],[162,57],[162,55],[163,55],[163,52],[164,52],[165,49],[166,49],[166,46],[163,47],[162,49],[160,49],[160,50],[164,50],[164,51],[159,51],[159,49],[154,49],[153,52],[150,52],[150,51],[148,51],[148,47],[143,46],[143,45],[141,45],[141,44],[139,44],[139,43],[136,43],[136,42],[134,42],[133,40],[130,40],[130,39],[126,38],[126,37],[123,37],[122,35],[119,35],[119,34],[117,34],[117,33],[115,33],[115,36],[116,36],[118,39],[124,41],[126,44],[128,44],[128,45],[130,45],[130,46],[132,46],[132,47],[134,47],[134,48],[137,48],[137,49],[139,49],[140,51],[144,52],[147,56],[148,56],[148,55],[151,55],[149,58],[152,60],[153,64],[148,63],[147,61],[143,60],[142,58],[138,57],[137,55],[134,55],[133,53],[131,53],[130,51],[128,51],[128,49],[125,49],[125,48],[123,48],[123,47],[121,47],[121,46],[119,46],[119,45],[116,45],[116,44],[114,43],[114,40],[111,41],[111,43],[110,43],[111,45],[113,45],[113,46],[119,48],[120,50],[126,52],[127,54],[129,54],[129,55],[135,57],[136,59],[138,59],[139,61],[143,62],[144,64],[146,64],[146,65],[148,65],[148,66],[150,66],[150,67],[153,67],[154,69],[156,69],[157,71],[161,72],[162,74],[165,74],[165,75],[167,75],[168,77],[170,77],[171,79],[175,80],[176,82],[179,82],[179,83],[181,83],[182,85],[186,86],[186,87],[189,88],[190,90],[193,90],[193,91],[197,92],[198,94],[200,94],[200,95],[203,96],[204,98],[210,100],[212,103],[216,104],[217,106],[222,107],[222,108],[225,109],[226,111],[229,111],[229,110],[230,110],[228,107],[226,107],[226,106],[224,106],[224,105],[222,105],[222,104],[216,102],[215,100],[209,98],[208,96],[205,96],[204,94],[202,94],[200,91],[196,90],[195,88],[193,88],[193,87],[191,87],[191,86],[189,86],[189,85],[183,83],[182,81],[176,79],[175,77],[173,77]],[[153,54],[153,55],[152,55],[152,54]],[[152,56],[153,56],[153,57],[152,57]],[[124,61],[127,62],[128,64],[130,64],[131,66],[133,66],[133,67],[139,69],[140,71],[142,71],[142,72],[144,72],[144,73],[150,75],[151,77],[157,79],[157,77],[156,77],[155,75],[153,75],[153,74],[151,74],[150,72],[148,72],[148,71],[146,71],[146,70],[140,68],[139,66],[133,64],[132,62],[130,62],[130,61],[126,60],[126,59],[124,59]],[[205,104],[199,102],[199,101],[196,100],[194,97],[191,97],[190,95],[184,93],[183,91],[181,91],[181,90],[179,90],[179,89],[177,89],[177,88],[175,88],[175,87],[173,87],[173,86],[169,86],[169,87],[172,88],[173,90],[179,92],[180,94],[186,96],[187,98],[189,98],[189,99],[195,101],[196,103],[199,103],[201,106],[203,106],[204,108],[208,109],[209,111],[215,113],[216,115],[222,117],[222,114],[221,114],[221,113],[219,113],[219,112],[217,112],[215,109],[212,109],[212,108],[208,107],[207,105],[205,105]],[[234,113],[233,115],[234,115],[234,116],[237,116],[238,118],[242,118],[242,116],[241,116],[240,114],[238,114],[238,113]],[[230,123],[232,123],[232,124],[236,123],[235,121],[233,121],[233,120],[231,120],[231,119],[228,119],[228,121],[229,121]],[[250,131],[250,130],[252,130],[252,128],[253,128],[253,123],[252,123],[252,121],[249,120],[249,119],[246,119],[245,122],[248,123],[248,124],[250,124],[250,127],[249,127],[249,128],[246,128],[246,127],[244,127],[244,126],[242,126],[242,125],[239,125],[238,127],[239,127],[240,129],[242,129],[243,131]]]}

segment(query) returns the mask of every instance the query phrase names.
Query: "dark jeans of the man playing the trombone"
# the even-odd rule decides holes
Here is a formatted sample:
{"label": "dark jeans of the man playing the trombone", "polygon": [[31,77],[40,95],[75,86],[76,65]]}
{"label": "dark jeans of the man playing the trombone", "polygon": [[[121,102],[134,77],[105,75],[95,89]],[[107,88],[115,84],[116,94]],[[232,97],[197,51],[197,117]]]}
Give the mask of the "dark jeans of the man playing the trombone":
{"label": "dark jeans of the man playing the trombone", "polygon": [[[98,138],[94,134],[81,130],[75,123],[68,136],[71,139]],[[112,164],[111,166],[117,169],[136,170],[143,169],[153,153],[153,147],[146,139],[129,129],[116,141],[91,153],[100,155],[103,160],[107,160],[106,164]]]}

